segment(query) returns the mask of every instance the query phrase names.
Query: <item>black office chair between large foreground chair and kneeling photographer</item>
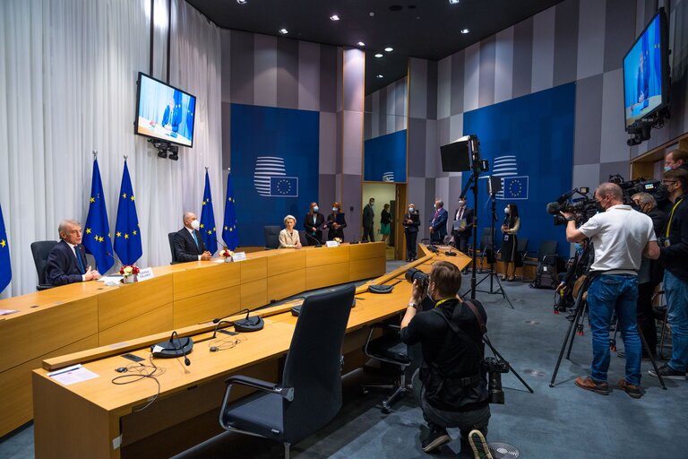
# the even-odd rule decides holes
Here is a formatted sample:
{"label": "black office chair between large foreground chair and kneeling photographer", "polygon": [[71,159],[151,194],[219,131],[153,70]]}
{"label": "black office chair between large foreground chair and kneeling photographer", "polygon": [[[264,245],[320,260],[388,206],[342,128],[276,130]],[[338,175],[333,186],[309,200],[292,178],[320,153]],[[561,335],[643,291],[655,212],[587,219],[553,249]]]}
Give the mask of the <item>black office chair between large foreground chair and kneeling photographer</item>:
{"label": "black office chair between large foreground chair and kneeling photographer", "polygon": [[[386,328],[388,333],[372,340],[373,333],[377,328]],[[369,389],[393,389],[394,392],[387,400],[383,401],[381,407],[383,413],[389,413],[392,404],[400,400],[406,394],[412,392],[406,384],[406,370],[411,364],[409,347],[404,342],[401,342],[400,326],[385,324],[371,325],[370,333],[368,333],[368,339],[363,351],[366,352],[366,356],[371,359],[391,364],[399,370],[392,384],[366,384],[362,386],[364,394],[367,394]]]}

